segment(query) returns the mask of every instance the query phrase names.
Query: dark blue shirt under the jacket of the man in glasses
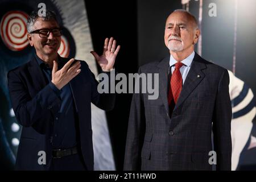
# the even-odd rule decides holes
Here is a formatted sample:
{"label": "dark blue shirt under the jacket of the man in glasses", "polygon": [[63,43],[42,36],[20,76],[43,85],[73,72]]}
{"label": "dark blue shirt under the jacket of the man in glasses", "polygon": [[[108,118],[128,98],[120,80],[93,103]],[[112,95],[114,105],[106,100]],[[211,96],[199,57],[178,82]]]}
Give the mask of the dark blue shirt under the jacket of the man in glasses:
{"label": "dark blue shirt under the jacket of the man in glasses", "polygon": [[[60,109],[53,116],[54,121],[50,139],[52,146],[55,149],[63,149],[76,146],[78,138],[78,119],[77,112],[75,110],[75,102],[73,101],[71,86],[68,83],[61,90],[56,88],[56,86],[51,82],[52,69],[49,68],[48,64],[44,63],[43,60],[40,59],[37,55],[35,55],[35,57],[44,73],[44,76],[46,76],[46,79],[49,82],[49,86],[61,100]],[[59,60],[57,61],[59,68],[64,65],[64,63],[61,61],[61,57],[59,56]]]}

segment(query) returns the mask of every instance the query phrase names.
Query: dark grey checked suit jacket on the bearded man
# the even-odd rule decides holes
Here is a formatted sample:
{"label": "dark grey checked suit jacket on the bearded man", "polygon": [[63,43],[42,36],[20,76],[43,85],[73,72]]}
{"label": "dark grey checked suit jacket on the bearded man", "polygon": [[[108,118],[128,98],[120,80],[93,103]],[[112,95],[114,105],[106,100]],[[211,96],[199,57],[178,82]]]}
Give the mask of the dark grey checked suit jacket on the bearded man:
{"label": "dark grey checked suit jacket on the bearded man", "polygon": [[[169,60],[166,57],[139,68],[139,73],[159,73],[159,97],[148,100],[148,93],[133,94],[124,170],[212,170],[214,162],[217,170],[230,170],[232,108],[228,71],[196,53],[170,114]],[[213,150],[216,161],[210,158]]]}

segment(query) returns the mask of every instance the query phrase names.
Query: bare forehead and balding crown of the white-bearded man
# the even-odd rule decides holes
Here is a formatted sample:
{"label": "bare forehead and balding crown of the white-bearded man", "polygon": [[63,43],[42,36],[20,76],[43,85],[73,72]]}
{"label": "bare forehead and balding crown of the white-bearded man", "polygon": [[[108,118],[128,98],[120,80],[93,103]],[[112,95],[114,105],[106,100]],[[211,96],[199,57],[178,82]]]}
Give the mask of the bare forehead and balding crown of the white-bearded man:
{"label": "bare forehead and balding crown of the white-bearded man", "polygon": [[188,13],[177,11],[168,16],[167,24],[187,24],[187,26],[193,26],[193,19]]}

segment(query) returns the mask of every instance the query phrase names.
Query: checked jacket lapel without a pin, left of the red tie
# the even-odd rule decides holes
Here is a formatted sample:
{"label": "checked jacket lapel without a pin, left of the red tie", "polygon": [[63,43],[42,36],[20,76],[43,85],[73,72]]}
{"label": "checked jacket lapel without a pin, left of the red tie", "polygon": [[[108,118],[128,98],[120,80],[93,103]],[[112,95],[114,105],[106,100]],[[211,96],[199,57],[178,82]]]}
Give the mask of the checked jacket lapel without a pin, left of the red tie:
{"label": "checked jacket lapel without a pin, left of the red tie", "polygon": [[163,100],[164,108],[166,108],[167,113],[169,113],[168,95],[167,95],[169,62],[170,62],[170,56],[164,58],[158,64],[159,94]]}

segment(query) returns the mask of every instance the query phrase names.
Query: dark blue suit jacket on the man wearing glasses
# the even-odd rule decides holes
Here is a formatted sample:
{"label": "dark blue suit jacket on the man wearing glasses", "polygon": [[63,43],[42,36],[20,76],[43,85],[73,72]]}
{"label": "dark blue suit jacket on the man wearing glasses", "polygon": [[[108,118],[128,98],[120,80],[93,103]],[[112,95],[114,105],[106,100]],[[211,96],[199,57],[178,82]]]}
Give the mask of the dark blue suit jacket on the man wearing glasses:
{"label": "dark blue suit jacket on the man wearing glasses", "polygon": [[[63,59],[66,62],[69,60]],[[11,70],[7,77],[14,113],[23,126],[16,169],[47,170],[52,159],[53,115],[59,111],[61,101],[49,87],[35,58]],[[91,102],[101,109],[111,110],[115,95],[97,92],[98,82],[85,61],[81,61],[81,73],[70,84],[79,118],[82,156],[86,168],[93,170]],[[39,151],[46,152],[45,165],[38,163]]]}

